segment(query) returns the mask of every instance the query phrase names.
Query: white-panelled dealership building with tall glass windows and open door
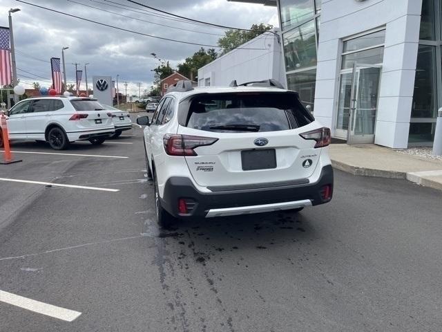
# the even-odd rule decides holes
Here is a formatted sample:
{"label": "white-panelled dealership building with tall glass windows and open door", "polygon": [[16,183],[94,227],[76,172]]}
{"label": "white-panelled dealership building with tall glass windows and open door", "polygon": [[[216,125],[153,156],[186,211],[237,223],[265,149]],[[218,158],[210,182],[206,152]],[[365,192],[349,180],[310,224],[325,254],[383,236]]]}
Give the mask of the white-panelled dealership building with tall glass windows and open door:
{"label": "white-panelled dealership building with tall glass windows and open door", "polygon": [[278,75],[332,136],[432,145],[442,107],[442,0],[228,1],[276,6]]}

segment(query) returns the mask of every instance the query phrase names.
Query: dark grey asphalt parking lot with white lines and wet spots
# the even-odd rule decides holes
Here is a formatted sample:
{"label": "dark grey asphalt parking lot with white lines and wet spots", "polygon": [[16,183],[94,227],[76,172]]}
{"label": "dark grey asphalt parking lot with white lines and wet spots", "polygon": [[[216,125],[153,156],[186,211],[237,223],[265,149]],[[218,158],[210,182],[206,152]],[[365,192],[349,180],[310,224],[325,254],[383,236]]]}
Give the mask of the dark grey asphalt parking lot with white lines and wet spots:
{"label": "dark grey asphalt parking lot with white lines and wet spots", "polygon": [[441,331],[440,192],[336,171],[327,205],[160,230],[142,144],[13,143],[0,331]]}

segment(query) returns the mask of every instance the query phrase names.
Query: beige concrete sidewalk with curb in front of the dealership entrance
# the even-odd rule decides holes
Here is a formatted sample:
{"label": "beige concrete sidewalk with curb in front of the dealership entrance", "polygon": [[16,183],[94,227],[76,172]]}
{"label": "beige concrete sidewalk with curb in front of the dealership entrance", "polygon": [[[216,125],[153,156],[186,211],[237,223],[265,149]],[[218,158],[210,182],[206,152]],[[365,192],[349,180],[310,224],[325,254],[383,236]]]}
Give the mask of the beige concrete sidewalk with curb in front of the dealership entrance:
{"label": "beige concrete sidewalk with curb in front of the dealership entrance", "polygon": [[332,144],[329,149],[336,169],[360,176],[406,178],[442,190],[442,161],[401,154],[378,145]]}

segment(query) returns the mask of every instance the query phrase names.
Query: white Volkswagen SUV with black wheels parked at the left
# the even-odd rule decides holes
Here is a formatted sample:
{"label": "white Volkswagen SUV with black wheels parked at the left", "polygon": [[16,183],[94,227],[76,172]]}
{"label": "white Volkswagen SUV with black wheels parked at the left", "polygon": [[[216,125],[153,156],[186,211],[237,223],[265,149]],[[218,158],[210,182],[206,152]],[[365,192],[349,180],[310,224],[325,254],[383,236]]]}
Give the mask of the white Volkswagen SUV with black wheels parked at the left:
{"label": "white Volkswagen SUV with black wheels parked at the left", "polygon": [[56,150],[75,140],[99,145],[115,133],[112,114],[96,99],[61,96],[21,100],[8,111],[7,127],[10,140],[46,141]]}

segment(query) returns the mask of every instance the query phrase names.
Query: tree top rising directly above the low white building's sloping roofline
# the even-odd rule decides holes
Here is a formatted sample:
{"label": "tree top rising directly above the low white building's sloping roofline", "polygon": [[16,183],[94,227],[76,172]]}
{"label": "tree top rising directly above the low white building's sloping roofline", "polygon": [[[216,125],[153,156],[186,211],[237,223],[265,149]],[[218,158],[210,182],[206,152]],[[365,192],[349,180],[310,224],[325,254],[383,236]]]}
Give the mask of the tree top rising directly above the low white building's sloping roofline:
{"label": "tree top rising directly above the low white building's sloping roofline", "polygon": [[218,39],[218,46],[222,48],[221,55],[230,52],[234,48],[241,46],[244,43],[249,42],[249,40],[262,35],[265,31],[273,28],[271,24],[253,24],[250,31],[243,30],[227,30],[224,33],[224,37]]}

